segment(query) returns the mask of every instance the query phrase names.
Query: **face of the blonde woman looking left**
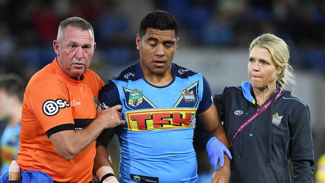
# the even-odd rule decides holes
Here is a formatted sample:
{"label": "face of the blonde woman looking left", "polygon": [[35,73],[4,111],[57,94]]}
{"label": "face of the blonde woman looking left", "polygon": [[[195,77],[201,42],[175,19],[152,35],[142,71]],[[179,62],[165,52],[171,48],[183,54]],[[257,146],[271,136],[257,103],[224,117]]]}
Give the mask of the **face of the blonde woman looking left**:
{"label": "face of the blonde woman looking left", "polygon": [[254,46],[248,57],[248,75],[253,88],[275,87],[277,69],[268,49]]}

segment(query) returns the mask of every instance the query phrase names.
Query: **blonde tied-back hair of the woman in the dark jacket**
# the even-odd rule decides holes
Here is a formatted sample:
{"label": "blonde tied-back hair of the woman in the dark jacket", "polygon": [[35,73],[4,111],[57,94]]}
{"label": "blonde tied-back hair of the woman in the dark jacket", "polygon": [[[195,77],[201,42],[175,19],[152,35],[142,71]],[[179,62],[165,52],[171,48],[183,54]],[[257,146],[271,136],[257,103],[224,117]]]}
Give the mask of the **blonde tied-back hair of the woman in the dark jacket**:
{"label": "blonde tied-back hair of the woman in the dark jacket", "polygon": [[266,48],[269,51],[275,64],[275,68],[283,67],[283,71],[278,74],[276,83],[282,88],[285,88],[285,85],[291,83],[292,90],[294,90],[295,80],[292,66],[289,64],[289,47],[284,40],[271,33],[264,33],[251,41],[249,52],[255,45]]}

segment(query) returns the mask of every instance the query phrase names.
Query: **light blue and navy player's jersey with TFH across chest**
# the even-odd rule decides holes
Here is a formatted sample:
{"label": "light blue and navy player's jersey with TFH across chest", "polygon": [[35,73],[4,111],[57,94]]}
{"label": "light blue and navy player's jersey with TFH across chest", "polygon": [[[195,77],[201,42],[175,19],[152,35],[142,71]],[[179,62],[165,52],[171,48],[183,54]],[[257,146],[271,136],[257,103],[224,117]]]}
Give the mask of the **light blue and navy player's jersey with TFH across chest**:
{"label": "light blue and navy player's jersey with TFH across chest", "polygon": [[137,61],[99,91],[101,107],[121,104],[126,121],[116,129],[120,182],[197,181],[195,114],[211,106],[211,91],[201,73],[174,63],[171,71],[168,85],[154,86]]}

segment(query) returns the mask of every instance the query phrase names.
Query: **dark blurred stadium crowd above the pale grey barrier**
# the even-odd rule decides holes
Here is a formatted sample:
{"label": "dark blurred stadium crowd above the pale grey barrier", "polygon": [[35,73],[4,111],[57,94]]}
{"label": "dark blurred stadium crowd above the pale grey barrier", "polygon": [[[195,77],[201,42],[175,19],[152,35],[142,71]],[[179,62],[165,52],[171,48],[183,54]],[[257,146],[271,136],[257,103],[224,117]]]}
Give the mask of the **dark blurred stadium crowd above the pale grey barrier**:
{"label": "dark blurred stadium crowd above the pale grey barrier", "polygon": [[94,28],[90,68],[105,81],[138,59],[137,23],[153,9],[175,16],[182,48],[248,48],[272,32],[288,43],[294,67],[325,75],[324,0],[0,0],[0,74],[26,83],[55,57],[58,23],[80,16]]}

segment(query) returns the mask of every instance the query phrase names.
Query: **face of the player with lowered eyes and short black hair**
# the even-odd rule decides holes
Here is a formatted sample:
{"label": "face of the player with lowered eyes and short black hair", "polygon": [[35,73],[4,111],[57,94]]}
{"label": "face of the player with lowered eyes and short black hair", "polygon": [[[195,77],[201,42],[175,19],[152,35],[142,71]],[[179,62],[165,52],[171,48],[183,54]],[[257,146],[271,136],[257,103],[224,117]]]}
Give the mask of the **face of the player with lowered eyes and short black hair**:
{"label": "face of the player with lowered eyes and short black hair", "polygon": [[147,28],[141,37],[136,35],[136,48],[140,51],[143,72],[161,74],[170,69],[179,38],[174,30]]}

